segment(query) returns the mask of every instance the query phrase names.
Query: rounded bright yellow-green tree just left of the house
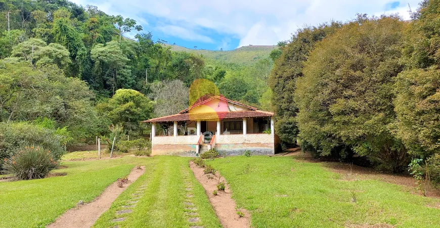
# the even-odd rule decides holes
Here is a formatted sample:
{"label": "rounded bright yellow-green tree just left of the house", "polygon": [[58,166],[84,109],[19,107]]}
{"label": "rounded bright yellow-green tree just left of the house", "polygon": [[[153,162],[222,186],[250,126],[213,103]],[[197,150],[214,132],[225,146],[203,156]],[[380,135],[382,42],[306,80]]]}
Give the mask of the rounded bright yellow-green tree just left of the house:
{"label": "rounded bright yellow-green tree just left of the house", "polygon": [[145,95],[133,89],[118,89],[106,103],[98,106],[102,115],[110,118],[114,125],[122,124],[124,130],[140,132],[144,129],[141,121],[150,119],[153,104]]}

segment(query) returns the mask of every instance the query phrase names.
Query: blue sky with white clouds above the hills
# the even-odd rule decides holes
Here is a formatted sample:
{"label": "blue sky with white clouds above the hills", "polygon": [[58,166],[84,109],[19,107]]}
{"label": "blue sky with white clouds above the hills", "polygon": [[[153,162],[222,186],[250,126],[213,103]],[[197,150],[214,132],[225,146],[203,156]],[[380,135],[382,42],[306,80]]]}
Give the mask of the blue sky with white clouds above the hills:
{"label": "blue sky with white clouds above the hills", "polygon": [[[72,0],[71,0],[72,1]],[[186,48],[233,50],[275,45],[305,25],[356,18],[357,13],[410,19],[421,0],[73,0],[109,15],[135,19],[142,32]],[[136,33],[128,34],[134,36]]]}

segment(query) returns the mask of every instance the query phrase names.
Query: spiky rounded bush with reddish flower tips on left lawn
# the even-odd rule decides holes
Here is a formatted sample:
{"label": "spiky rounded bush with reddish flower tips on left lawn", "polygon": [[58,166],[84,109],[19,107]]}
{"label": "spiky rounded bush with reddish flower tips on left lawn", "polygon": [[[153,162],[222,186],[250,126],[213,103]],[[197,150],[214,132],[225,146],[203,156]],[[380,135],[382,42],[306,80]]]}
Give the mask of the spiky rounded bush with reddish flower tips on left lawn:
{"label": "spiky rounded bush with reddish flower tips on left lawn", "polygon": [[14,156],[4,160],[5,172],[13,174],[17,179],[44,178],[58,165],[50,150],[38,146],[25,147]]}

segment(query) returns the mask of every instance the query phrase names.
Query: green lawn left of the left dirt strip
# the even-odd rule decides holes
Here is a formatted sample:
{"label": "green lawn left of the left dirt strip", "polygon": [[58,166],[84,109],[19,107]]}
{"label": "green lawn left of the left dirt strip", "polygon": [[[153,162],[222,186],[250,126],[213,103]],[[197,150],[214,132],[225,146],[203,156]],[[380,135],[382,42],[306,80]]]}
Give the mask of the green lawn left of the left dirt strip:
{"label": "green lawn left of the left dirt strip", "polygon": [[135,165],[156,162],[150,158],[63,162],[55,170],[66,176],[0,182],[0,227],[44,227],[78,201],[89,202]]}

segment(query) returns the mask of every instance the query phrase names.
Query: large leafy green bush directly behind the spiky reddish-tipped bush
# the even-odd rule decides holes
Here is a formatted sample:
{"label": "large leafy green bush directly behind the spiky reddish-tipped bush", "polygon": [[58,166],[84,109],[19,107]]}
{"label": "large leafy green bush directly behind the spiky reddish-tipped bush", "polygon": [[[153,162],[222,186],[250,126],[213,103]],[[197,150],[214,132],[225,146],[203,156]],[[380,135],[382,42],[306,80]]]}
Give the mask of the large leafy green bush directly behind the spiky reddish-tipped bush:
{"label": "large leafy green bush directly behind the spiky reddish-tipped bush", "polygon": [[39,145],[50,150],[53,160],[58,161],[65,153],[61,140],[62,137],[54,130],[35,124],[0,123],[0,159],[17,154],[27,145]]}

